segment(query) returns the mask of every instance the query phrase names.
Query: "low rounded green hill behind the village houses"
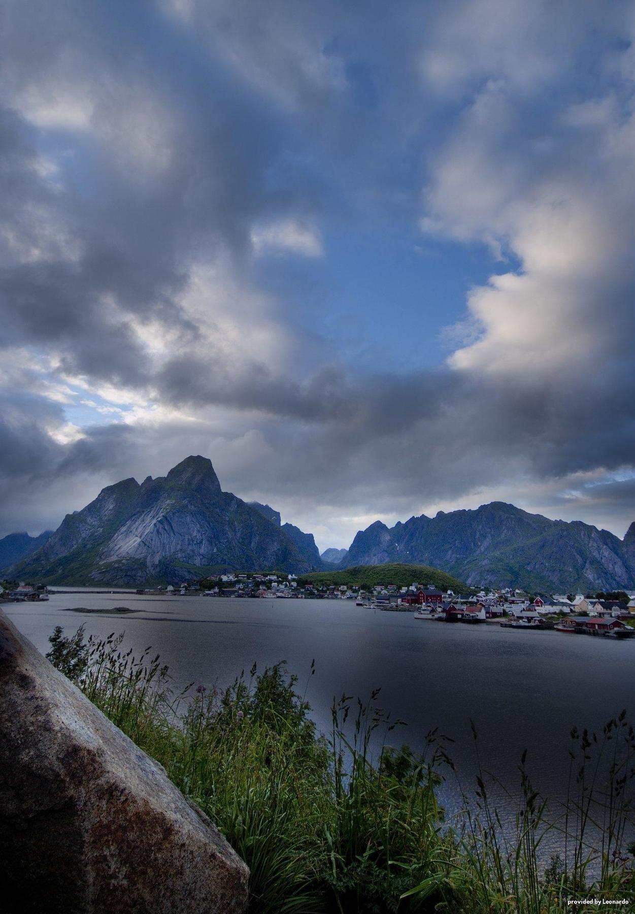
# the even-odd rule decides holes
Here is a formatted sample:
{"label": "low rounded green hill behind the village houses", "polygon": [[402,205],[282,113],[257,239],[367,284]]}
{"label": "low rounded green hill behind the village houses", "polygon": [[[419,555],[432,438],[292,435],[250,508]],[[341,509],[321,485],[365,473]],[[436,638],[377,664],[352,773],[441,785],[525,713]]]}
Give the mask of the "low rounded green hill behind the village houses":
{"label": "low rounded green hill behind the village houses", "polygon": [[312,584],[317,587],[339,587],[359,585],[362,588],[376,587],[377,584],[396,584],[397,587],[409,587],[410,584],[423,584],[439,590],[453,590],[454,593],[465,593],[469,590],[457,578],[445,571],[430,568],[428,565],[407,565],[394,562],[389,565],[355,565],[344,571],[315,571],[298,576],[298,584]]}

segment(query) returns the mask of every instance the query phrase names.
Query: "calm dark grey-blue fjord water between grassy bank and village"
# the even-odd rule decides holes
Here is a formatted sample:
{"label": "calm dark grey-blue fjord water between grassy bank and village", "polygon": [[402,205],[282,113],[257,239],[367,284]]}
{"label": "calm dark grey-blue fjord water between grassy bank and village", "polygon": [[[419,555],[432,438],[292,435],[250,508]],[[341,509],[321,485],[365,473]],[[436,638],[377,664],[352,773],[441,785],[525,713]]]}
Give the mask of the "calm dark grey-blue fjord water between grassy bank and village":
{"label": "calm dark grey-blue fjord water between grassy bank and village", "polygon": [[[65,611],[122,605],[140,611]],[[301,694],[306,687],[312,717],[324,732],[331,726],[333,697],[345,693],[367,701],[381,687],[376,704],[407,721],[387,734],[388,741],[422,749],[426,733],[438,727],[455,740],[450,755],[470,788],[470,719],[486,770],[513,789],[527,749],[534,785],[557,800],[566,793],[570,729],[601,729],[622,708],[630,719],[635,712],[631,641],[522,632],[496,623],[419,622],[409,612],[365,609],[353,600],[156,598],[78,590],[3,610],[43,652],[58,624],[67,634],[80,624],[87,634],[124,631],[124,644],[135,654],[149,645],[161,654],[177,689],[189,683],[224,687],[241,670],[249,675],[254,662],[262,671],[285,660],[299,677]],[[310,676],[313,659],[316,672]],[[444,802],[455,805],[456,791],[450,776]]]}

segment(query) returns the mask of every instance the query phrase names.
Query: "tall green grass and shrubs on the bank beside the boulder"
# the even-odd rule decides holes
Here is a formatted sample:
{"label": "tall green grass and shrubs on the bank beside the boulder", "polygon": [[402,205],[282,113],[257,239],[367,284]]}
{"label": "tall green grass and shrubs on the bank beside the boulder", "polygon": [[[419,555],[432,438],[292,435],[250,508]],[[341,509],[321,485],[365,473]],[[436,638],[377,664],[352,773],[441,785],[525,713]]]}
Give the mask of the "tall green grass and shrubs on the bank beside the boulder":
{"label": "tall green grass and shrubs on the bank beside the boulder", "polygon": [[[124,652],[121,635],[85,641],[83,628],[65,637],[58,627],[49,641],[49,659],[164,765],[247,862],[252,912],[551,914],[572,899],[635,898],[635,735],[624,715],[598,736],[571,732],[560,807],[538,796],[521,760],[510,830],[481,768],[474,793],[460,783],[450,740],[430,732],[421,756],[387,746],[400,722],[377,707],[377,692],[367,705],[333,702],[331,732],[321,735],[306,686],[283,663],[260,674],[254,666],[225,691],[193,684],[175,695],[160,658]],[[377,738],[384,749],[373,764]],[[451,820],[437,799],[443,777],[464,798]],[[545,860],[552,833],[562,855]]]}

